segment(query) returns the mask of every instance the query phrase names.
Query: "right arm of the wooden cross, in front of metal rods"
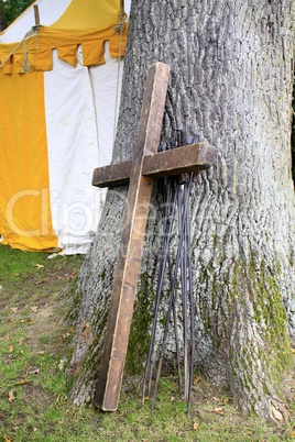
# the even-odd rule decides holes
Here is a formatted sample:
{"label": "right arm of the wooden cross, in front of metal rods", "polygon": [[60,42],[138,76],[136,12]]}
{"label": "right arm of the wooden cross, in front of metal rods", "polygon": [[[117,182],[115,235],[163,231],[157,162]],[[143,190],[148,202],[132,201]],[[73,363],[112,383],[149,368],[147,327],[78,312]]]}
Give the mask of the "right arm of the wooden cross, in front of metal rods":
{"label": "right arm of the wooden cross, in front of metal rods", "polygon": [[206,143],[192,144],[144,157],[142,174],[160,178],[199,172],[212,165],[215,148]]}

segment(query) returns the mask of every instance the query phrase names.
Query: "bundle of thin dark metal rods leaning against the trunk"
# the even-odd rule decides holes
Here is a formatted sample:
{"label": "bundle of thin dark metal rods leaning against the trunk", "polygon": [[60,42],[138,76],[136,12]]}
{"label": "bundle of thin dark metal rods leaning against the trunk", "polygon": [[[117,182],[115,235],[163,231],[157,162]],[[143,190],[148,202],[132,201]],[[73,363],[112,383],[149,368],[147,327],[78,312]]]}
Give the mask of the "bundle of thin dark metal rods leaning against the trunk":
{"label": "bundle of thin dark metal rods leaning against the trunk", "polygon": [[[175,140],[173,144],[175,147],[178,147],[184,145],[185,143],[193,144],[197,141],[197,136],[184,140],[183,132],[175,131]],[[179,391],[184,395],[184,399],[187,402],[188,412],[190,411],[192,406],[195,352],[195,313],[193,299],[189,220],[189,195],[194,180],[194,173],[185,174],[179,177],[166,178],[164,186],[165,212],[163,223],[163,239],[161,245],[160,270],[156,287],[154,321],[151,331],[151,341],[145,365],[142,394],[142,404],[144,404],[146,397],[152,397],[152,408],[154,408],[162,365],[165,357],[170,325],[173,324],[178,386]],[[177,218],[178,222],[178,245],[174,264],[172,264],[170,253],[175,218]],[[165,312],[165,325],[163,330],[163,335],[160,343],[157,342],[156,350],[156,331],[160,328],[160,306],[164,305],[162,298],[164,296],[163,288],[165,275],[168,275],[170,279],[170,295],[168,302],[166,302],[167,309]],[[181,289],[178,289],[179,284]],[[177,294],[181,294],[181,299],[177,299]],[[182,318],[182,345],[179,344],[181,339],[178,336],[177,318]]]}

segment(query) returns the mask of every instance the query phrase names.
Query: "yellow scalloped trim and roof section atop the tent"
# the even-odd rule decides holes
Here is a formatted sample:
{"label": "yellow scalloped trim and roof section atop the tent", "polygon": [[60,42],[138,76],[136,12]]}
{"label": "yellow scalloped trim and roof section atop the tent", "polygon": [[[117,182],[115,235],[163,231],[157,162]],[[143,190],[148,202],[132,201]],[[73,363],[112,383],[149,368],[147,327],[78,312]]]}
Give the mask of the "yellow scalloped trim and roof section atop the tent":
{"label": "yellow scalloped trim and roof section atop the tent", "polygon": [[94,3],[90,0],[83,2],[73,0],[65,13],[53,25],[41,26],[35,35],[26,38],[17,49],[20,42],[0,43],[0,63],[13,53],[6,62],[3,73],[52,70],[53,49],[57,49],[59,58],[76,66],[79,45],[81,45],[85,66],[105,63],[105,42],[110,42],[111,57],[124,56],[128,24],[124,23],[120,36],[116,32],[119,14],[119,1],[99,0]]}

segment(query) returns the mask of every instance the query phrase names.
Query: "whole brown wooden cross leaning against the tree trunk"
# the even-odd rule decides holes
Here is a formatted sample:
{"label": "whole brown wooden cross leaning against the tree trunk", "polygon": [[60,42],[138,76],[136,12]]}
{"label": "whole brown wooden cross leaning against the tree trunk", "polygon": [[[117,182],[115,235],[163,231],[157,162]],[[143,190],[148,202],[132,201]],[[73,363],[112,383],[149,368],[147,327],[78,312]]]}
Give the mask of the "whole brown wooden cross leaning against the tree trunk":
{"label": "whole brown wooden cross leaning against the tree trunk", "polygon": [[205,143],[157,153],[168,76],[170,66],[163,63],[154,64],[148,71],[134,158],[94,172],[94,186],[112,187],[129,183],[95,398],[96,406],[103,411],[118,408],[153,179],[203,170],[214,161],[215,150]]}

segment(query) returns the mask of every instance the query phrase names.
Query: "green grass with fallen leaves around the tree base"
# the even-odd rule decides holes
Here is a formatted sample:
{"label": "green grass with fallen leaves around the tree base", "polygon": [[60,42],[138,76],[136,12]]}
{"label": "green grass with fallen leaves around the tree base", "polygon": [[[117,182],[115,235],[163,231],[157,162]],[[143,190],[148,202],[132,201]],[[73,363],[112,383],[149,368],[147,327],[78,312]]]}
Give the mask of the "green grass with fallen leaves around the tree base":
{"label": "green grass with fallen leaves around the tree base", "polygon": [[226,391],[201,378],[189,417],[173,377],[161,379],[154,410],[150,399],[141,406],[138,378],[124,380],[114,413],[74,407],[62,362],[74,330],[62,321],[59,294],[81,262],[0,245],[0,442],[295,440],[291,426],[241,416]]}

